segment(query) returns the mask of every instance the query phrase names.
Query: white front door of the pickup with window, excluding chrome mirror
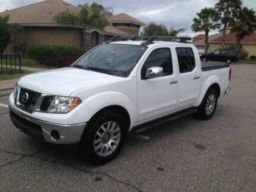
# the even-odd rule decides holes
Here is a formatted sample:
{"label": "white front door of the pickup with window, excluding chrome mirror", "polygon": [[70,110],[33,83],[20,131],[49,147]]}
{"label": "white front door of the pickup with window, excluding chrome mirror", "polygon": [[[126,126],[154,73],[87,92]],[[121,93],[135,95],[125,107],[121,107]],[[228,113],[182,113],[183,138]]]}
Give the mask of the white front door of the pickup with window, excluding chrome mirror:
{"label": "white front door of the pickup with window, excluding chrome mirror", "polygon": [[[162,67],[163,76],[146,78],[147,69]],[[137,74],[138,123],[175,111],[178,80],[173,58],[167,47],[151,50]]]}

